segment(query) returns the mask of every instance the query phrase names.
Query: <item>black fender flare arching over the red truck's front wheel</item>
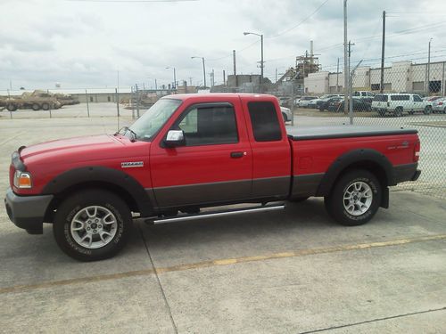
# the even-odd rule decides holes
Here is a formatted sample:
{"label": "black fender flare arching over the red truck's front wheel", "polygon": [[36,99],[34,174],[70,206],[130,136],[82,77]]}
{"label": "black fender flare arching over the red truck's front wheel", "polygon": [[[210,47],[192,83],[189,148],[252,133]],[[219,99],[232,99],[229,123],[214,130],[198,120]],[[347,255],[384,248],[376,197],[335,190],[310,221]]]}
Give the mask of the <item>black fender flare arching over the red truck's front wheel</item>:
{"label": "black fender flare arching over the red truck's front wheel", "polygon": [[141,216],[150,216],[153,212],[153,205],[144,187],[134,177],[109,167],[90,166],[70,169],[47,183],[42,194],[61,194],[82,183],[110,184],[116,189],[128,192],[132,200],[136,202]]}

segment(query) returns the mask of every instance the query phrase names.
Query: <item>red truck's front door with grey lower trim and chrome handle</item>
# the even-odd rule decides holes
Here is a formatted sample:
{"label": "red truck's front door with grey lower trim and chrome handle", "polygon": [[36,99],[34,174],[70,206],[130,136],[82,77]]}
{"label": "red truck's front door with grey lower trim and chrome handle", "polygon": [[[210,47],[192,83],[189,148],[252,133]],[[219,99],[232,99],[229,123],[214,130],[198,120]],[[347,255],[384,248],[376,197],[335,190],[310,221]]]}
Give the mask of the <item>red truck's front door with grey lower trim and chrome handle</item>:
{"label": "red truck's front door with grey lower trim and chrome handle", "polygon": [[252,151],[241,111],[240,102],[194,104],[170,127],[184,131],[185,146],[153,143],[150,161],[158,207],[250,197]]}

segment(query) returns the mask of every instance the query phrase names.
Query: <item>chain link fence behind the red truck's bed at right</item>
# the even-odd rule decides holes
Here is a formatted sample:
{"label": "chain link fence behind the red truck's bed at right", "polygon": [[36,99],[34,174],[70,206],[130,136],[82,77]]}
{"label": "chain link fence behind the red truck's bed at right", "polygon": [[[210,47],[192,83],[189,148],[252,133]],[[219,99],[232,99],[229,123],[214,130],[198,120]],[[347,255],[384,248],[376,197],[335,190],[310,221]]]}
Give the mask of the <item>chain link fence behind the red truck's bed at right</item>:
{"label": "chain link fence behind the red truck's bed at right", "polygon": [[[357,126],[417,129],[422,174],[417,182],[401,183],[393,189],[446,199],[445,63],[401,61],[384,68],[383,73],[381,69],[358,68],[351,75],[352,98],[347,95],[351,115],[344,111],[344,90],[338,86],[343,83],[342,73],[341,79],[339,73],[309,75],[304,80],[304,94],[289,92],[277,94],[277,97],[284,105],[293,106],[296,126],[342,125],[352,120]],[[383,87],[380,84],[382,74]]]}

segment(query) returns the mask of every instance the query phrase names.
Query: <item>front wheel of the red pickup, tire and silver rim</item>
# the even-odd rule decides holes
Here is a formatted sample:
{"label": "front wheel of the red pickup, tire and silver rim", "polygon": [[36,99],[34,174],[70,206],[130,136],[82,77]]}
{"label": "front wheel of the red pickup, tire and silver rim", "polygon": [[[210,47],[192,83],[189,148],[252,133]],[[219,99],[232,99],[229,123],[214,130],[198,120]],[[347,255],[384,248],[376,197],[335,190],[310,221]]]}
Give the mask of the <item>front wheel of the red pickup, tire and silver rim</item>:
{"label": "front wheel of the red pickup, tire and silver rim", "polygon": [[[97,208],[95,216],[87,216],[87,208],[90,210],[89,214],[95,213],[95,208]],[[111,216],[108,215],[109,213]],[[104,216],[101,217],[101,215]],[[107,222],[106,219],[111,219],[113,223]],[[83,231],[71,231],[72,226],[78,224],[74,223],[75,220],[76,222],[83,221],[80,224],[82,227],[80,230]],[[119,196],[109,191],[91,189],[78,191],[62,202],[54,217],[53,232],[57,244],[65,254],[87,262],[115,256],[126,243],[131,226],[130,210]],[[90,231],[87,232],[87,229]],[[99,237],[101,232],[96,233],[100,229],[103,232],[101,238]],[[106,233],[108,235],[103,237]],[[86,239],[87,234],[91,236],[89,237],[91,239],[88,239],[90,247],[76,240]],[[108,240],[102,239],[107,237]],[[103,246],[101,246],[102,243]]]}

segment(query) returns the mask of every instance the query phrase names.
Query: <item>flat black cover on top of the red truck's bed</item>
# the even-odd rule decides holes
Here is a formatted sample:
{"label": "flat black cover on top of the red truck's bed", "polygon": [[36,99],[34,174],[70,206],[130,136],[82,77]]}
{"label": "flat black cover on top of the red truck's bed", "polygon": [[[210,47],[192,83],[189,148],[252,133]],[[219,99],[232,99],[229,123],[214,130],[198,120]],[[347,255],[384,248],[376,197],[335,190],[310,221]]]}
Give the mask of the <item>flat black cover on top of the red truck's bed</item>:
{"label": "flat black cover on top of the red truck's bed", "polygon": [[297,126],[286,127],[286,133],[293,141],[304,141],[376,135],[417,134],[417,130],[383,126]]}

